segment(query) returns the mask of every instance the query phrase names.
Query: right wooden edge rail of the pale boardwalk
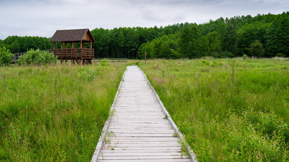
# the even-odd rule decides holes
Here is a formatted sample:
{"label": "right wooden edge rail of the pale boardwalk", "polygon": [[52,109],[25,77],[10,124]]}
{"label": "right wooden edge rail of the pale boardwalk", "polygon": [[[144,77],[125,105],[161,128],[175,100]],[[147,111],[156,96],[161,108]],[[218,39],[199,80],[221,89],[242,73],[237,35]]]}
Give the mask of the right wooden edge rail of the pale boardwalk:
{"label": "right wooden edge rail of the pale boardwalk", "polygon": [[[138,67],[138,68],[141,70],[140,67]],[[144,71],[141,70],[141,72],[144,74]],[[159,95],[157,95],[156,90],[152,87],[151,83],[149,82],[149,80],[148,80],[148,78],[147,78],[147,76],[146,76],[145,74],[144,74],[144,78],[148,81],[149,86],[152,88],[153,93],[156,95],[156,98],[157,98],[158,102],[160,103],[160,106],[162,107],[162,109],[163,109],[163,111],[164,111],[164,114],[168,116],[168,122],[171,123],[172,128],[173,128],[174,131],[178,134],[178,137],[180,138],[181,142],[182,142],[182,143],[186,143],[183,134],[179,131],[179,129],[178,129],[178,127],[176,126],[175,122],[172,120],[170,114],[168,114],[168,111],[167,111],[167,109],[164,107],[163,102],[161,102],[161,100],[160,100],[160,98],[159,98]],[[193,152],[193,150],[191,149],[191,147],[190,147],[189,145],[187,145],[187,149],[189,150],[188,153],[190,154],[190,158],[191,158],[192,162],[199,162],[199,161],[197,160],[197,157],[196,157],[195,153]]]}

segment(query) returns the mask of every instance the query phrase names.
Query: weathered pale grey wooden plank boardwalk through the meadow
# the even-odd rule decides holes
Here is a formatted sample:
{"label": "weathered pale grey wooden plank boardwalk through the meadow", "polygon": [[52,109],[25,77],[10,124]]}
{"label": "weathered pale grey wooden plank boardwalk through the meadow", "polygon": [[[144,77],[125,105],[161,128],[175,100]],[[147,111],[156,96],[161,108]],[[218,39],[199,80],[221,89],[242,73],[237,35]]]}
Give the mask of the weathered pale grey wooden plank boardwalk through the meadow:
{"label": "weathered pale grey wooden plank boardwalk through the meadow", "polygon": [[92,162],[197,161],[182,153],[182,134],[137,66],[127,66],[111,110]]}

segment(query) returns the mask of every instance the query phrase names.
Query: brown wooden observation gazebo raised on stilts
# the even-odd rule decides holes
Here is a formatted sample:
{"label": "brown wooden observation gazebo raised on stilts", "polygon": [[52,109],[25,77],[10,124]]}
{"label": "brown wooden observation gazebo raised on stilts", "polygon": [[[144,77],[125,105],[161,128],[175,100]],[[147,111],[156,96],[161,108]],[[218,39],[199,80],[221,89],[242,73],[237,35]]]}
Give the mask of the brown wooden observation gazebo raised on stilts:
{"label": "brown wooden observation gazebo raised on stilts", "polygon": [[[53,42],[53,53],[61,63],[63,60],[74,60],[82,65],[83,63],[92,64],[94,58],[94,49],[92,42],[95,42],[89,29],[73,29],[73,30],[56,30],[53,37],[50,39]],[[55,48],[55,42],[61,42],[61,48]],[[74,43],[80,43],[80,48],[74,48]],[[84,48],[84,43],[89,42],[89,48]],[[71,43],[71,48],[66,48],[66,44]],[[81,62],[82,61],[82,62]]]}

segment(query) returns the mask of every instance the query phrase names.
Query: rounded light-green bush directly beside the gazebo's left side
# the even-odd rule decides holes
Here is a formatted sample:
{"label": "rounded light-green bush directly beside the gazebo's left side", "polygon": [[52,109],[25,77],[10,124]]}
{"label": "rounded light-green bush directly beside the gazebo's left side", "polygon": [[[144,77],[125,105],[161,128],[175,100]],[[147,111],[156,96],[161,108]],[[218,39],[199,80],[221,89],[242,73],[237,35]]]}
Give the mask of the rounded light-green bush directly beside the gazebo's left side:
{"label": "rounded light-green bush directly beside the gazebo's left side", "polygon": [[26,54],[20,56],[20,58],[16,61],[19,65],[44,65],[44,64],[53,64],[56,63],[57,57],[54,56],[53,53],[48,51],[40,51],[39,48],[34,51],[34,49],[30,49]]}

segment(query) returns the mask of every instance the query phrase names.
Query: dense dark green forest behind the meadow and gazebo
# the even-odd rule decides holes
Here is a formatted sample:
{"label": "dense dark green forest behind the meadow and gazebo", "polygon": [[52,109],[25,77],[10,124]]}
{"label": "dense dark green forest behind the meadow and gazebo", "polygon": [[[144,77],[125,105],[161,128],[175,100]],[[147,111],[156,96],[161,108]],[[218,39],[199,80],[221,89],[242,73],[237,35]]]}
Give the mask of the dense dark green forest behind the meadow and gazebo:
{"label": "dense dark green forest behind the meadow and gazebo", "polygon": [[[289,57],[289,12],[220,17],[204,24],[120,27],[91,30],[96,58],[198,58],[202,56]],[[51,49],[50,38],[9,36],[0,40],[12,53]],[[57,44],[60,48],[60,43]]]}

